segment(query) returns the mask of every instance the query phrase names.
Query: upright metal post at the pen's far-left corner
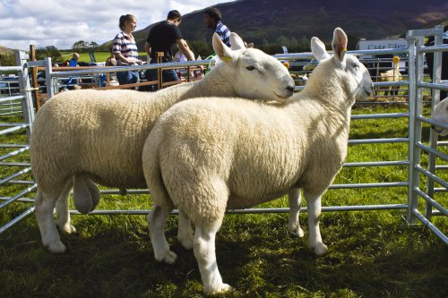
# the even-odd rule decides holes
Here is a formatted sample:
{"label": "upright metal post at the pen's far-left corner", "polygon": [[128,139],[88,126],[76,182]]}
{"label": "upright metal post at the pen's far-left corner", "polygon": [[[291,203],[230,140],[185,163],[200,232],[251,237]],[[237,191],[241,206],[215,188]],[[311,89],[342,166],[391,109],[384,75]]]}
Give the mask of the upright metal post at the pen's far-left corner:
{"label": "upright metal post at the pen's far-left corner", "polygon": [[26,64],[27,59],[29,58],[28,55],[26,55],[22,51],[15,50],[15,62],[17,65],[21,66],[21,72],[18,73],[19,75],[19,88],[21,91],[21,95],[23,97],[22,99],[22,112],[23,116],[25,118],[25,123],[28,124],[26,128],[27,133],[27,139],[30,143],[30,133],[31,133],[31,125],[34,122],[34,107],[32,104],[32,96],[31,96],[31,89],[30,89],[30,80],[28,76],[28,66]]}

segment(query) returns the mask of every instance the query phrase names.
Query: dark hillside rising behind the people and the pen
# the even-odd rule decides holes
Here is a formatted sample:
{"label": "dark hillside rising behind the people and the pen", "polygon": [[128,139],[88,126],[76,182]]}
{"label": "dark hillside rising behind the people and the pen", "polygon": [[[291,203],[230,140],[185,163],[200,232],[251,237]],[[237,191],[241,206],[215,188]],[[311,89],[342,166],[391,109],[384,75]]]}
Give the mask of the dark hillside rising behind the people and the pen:
{"label": "dark hillside rising behind the people and the pen", "polygon": [[[230,30],[258,45],[277,43],[280,37],[318,36],[329,42],[337,26],[355,38],[398,37],[407,30],[448,21],[446,0],[239,0],[216,7]],[[152,26],[135,32],[139,46]],[[187,41],[211,38],[203,24],[203,10],[185,14],[179,28]]]}

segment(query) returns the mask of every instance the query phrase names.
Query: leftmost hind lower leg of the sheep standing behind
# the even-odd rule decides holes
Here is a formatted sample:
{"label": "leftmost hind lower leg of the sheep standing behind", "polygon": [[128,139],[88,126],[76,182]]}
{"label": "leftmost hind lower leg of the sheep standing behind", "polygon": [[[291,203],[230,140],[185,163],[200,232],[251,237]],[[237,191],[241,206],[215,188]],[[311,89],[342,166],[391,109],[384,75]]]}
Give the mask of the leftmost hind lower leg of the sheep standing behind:
{"label": "leftmost hind lower leg of the sheep standing behind", "polygon": [[59,233],[57,233],[55,222],[53,221],[53,210],[55,209],[57,193],[41,192],[38,189],[34,199],[35,214],[38,220],[42,243],[53,253],[65,251],[65,245],[61,243]]}

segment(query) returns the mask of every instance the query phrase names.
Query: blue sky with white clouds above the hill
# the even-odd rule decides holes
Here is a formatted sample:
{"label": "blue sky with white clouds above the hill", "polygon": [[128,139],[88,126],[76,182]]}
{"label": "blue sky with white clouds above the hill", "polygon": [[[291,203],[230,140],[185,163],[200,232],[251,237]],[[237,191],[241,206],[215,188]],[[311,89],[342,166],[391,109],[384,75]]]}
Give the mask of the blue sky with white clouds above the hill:
{"label": "blue sky with white clouds above the hill", "polygon": [[55,46],[68,49],[76,41],[102,43],[120,30],[122,14],[134,14],[137,28],[167,18],[170,10],[181,14],[230,2],[228,0],[0,0],[0,46],[28,50]]}

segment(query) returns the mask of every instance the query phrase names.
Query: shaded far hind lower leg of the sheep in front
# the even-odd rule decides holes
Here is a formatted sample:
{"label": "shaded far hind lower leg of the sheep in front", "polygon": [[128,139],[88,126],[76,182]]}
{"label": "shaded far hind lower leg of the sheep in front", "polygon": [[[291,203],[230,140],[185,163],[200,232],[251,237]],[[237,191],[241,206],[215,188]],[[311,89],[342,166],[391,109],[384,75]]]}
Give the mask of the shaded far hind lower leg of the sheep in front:
{"label": "shaded far hind lower leg of the sheep in front", "polygon": [[158,205],[154,205],[151,209],[151,213],[148,215],[148,223],[150,226],[150,237],[155,259],[164,261],[168,264],[173,264],[177,259],[177,255],[173,251],[169,251],[167,238],[163,231],[167,224],[170,212],[171,209],[161,208]]}

